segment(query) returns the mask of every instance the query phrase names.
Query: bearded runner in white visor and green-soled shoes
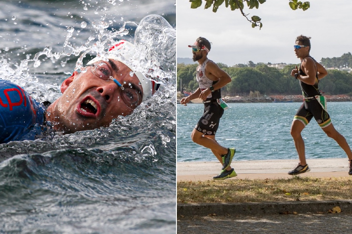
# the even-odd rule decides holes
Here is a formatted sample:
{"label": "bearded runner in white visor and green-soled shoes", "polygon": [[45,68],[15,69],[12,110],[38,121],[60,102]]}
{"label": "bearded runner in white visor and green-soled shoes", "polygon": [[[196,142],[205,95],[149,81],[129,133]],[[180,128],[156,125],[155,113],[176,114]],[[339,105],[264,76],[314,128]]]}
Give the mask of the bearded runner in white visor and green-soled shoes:
{"label": "bearded runner in white visor and green-soled shoes", "polygon": [[219,122],[224,109],[220,106],[221,91],[227,83],[231,82],[231,77],[219,66],[209,60],[207,55],[211,49],[210,42],[202,37],[197,38],[192,48],[193,61],[198,61],[197,82],[199,88],[186,98],[182,98],[180,103],[187,106],[193,99],[200,98],[204,103],[203,116],[194,127],[191,134],[192,140],[204,147],[209,148],[222,165],[219,175],[214,176],[214,180],[224,180],[237,176],[230,164],[235,154],[234,148],[225,148],[215,140],[215,133],[218,130]]}

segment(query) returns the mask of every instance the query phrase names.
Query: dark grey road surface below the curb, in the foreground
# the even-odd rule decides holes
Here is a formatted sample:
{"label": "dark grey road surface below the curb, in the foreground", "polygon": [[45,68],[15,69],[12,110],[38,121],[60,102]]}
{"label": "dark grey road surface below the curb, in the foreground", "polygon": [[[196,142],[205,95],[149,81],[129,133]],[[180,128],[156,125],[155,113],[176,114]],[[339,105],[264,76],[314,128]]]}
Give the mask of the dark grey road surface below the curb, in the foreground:
{"label": "dark grey road surface below the curb, in the foreground", "polygon": [[177,217],[177,233],[187,234],[351,234],[352,213]]}

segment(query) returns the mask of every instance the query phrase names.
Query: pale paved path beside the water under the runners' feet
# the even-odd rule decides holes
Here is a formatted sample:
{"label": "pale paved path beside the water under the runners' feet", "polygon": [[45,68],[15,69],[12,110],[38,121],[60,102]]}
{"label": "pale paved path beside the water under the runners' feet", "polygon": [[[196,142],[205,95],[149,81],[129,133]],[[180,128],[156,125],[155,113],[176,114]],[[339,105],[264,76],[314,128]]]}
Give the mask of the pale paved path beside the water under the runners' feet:
{"label": "pale paved path beside the water under the runners' feet", "polygon": [[[289,178],[287,173],[291,171],[298,160],[252,160],[233,161],[231,166],[238,174],[237,177],[227,179],[275,179]],[[301,176],[310,177],[341,177],[348,176],[348,159],[308,159],[310,172]],[[221,165],[219,162],[177,162],[177,181],[204,181],[212,180],[219,174]],[[352,178],[352,177],[351,177]]]}

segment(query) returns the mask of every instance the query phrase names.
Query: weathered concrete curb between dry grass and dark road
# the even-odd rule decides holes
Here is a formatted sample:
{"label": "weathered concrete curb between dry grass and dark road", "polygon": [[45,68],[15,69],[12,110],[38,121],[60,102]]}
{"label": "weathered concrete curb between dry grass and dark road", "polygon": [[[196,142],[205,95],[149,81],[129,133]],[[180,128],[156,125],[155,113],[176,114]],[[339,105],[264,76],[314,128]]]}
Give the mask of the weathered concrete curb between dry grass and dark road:
{"label": "weathered concrete curb between dry grass and dark road", "polygon": [[301,214],[324,212],[339,206],[341,212],[352,212],[352,200],[337,201],[290,201],[260,203],[191,203],[177,204],[177,215],[261,215],[261,214]]}

